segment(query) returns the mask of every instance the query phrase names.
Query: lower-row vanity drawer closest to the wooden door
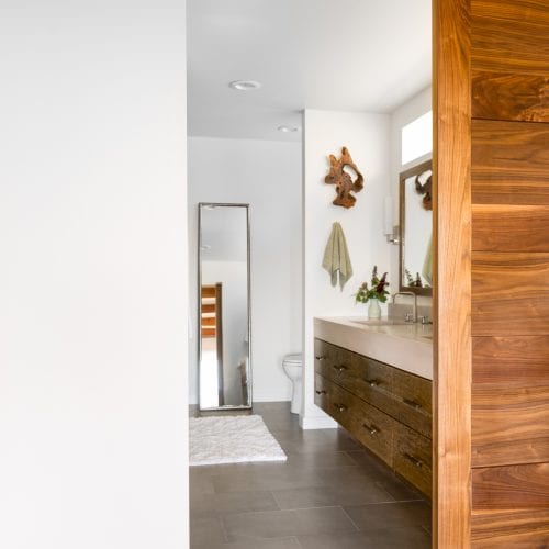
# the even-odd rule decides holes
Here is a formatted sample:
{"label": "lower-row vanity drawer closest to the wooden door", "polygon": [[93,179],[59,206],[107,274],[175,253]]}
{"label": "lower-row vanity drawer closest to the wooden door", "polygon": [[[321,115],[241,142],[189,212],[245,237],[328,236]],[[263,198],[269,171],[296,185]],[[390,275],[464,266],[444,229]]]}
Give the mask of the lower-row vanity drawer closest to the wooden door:
{"label": "lower-row vanity drawer closest to the wooden door", "polygon": [[394,432],[393,468],[425,495],[433,490],[433,442],[405,425]]}

